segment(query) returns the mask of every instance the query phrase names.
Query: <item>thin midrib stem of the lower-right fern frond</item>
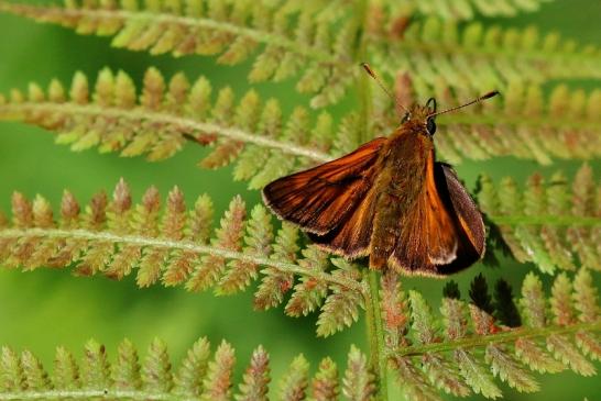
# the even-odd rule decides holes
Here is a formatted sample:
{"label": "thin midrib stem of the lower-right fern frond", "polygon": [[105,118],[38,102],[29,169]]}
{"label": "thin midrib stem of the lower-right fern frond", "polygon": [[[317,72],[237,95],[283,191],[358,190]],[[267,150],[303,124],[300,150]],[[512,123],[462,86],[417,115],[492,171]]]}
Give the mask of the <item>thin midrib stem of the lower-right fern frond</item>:
{"label": "thin midrib stem of the lower-right fern frond", "polygon": [[571,334],[579,331],[598,332],[601,331],[601,320],[597,322],[577,323],[569,326],[546,326],[546,327],[529,327],[515,328],[504,333],[495,333],[489,335],[474,335],[472,337],[460,338],[445,343],[430,343],[424,345],[414,345],[392,352],[392,355],[402,356],[422,356],[424,354],[437,354],[455,350],[458,348],[482,347],[489,344],[511,343],[516,339],[548,337],[554,334]]}

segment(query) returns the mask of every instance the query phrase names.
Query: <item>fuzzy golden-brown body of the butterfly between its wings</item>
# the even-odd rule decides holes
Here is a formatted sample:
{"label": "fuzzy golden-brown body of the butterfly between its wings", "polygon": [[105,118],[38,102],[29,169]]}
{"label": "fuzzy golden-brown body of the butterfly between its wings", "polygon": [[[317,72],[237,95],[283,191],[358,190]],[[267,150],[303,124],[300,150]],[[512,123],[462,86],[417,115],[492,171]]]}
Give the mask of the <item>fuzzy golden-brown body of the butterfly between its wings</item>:
{"label": "fuzzy golden-brown body of the butterfly between its wings", "polygon": [[386,266],[401,234],[400,221],[414,208],[424,190],[426,169],[433,160],[431,136],[418,119],[402,124],[386,142],[378,160],[381,172],[374,182],[378,198],[371,237],[371,267]]}

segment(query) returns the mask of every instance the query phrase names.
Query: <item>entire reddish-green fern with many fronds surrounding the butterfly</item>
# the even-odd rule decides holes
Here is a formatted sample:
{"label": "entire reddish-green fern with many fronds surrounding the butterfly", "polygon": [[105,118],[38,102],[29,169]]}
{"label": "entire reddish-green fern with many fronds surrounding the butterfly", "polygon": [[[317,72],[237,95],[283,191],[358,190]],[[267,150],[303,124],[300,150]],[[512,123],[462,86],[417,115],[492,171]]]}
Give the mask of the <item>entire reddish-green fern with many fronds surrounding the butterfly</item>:
{"label": "entire reddish-green fern with many fronds surrounding the butterfly", "polygon": [[[247,63],[249,81],[294,79],[313,108],[346,99],[357,88],[358,110],[332,118],[297,108],[284,116],[277,100],[251,90],[238,100],[229,87],[214,93],[205,77],[182,73],[166,80],[149,68],[139,89],[123,71],[102,69],[94,85],[81,73],[68,89],[53,80],[26,94],[0,96],[0,119],[57,133],[74,151],[97,147],[159,160],[185,144],[208,145],[200,163],[233,164],[233,178],[260,189],[271,180],[331,160],[398,125],[395,104],[371,92],[358,62],[371,60],[394,80],[405,104],[436,96],[445,107],[499,89],[503,97],[440,116],[436,146],[451,163],[514,156],[540,165],[601,156],[601,92],[568,89],[568,79],[599,80],[601,51],[556,33],[469,22],[510,16],[547,0],[66,0],[64,5],[0,0],[0,11],[111,36],[112,45],[151,54],[205,55],[225,65]],[[468,21],[468,22],[463,22]],[[550,87],[553,80],[562,79]],[[555,85],[555,83],[553,83]],[[532,176],[523,187],[483,175],[477,188],[491,250],[551,275],[528,272],[520,296],[510,283],[490,287],[477,276],[463,300],[447,282],[440,313],[398,277],[331,257],[307,244],[291,224],[274,226],[262,205],[234,197],[219,221],[211,199],[188,209],[176,187],[164,205],[156,188],[134,204],[121,180],[81,208],[65,191],[58,218],[41,196],[15,192],[10,221],[0,213],[0,264],[33,270],[70,268],[76,275],[121,279],[140,287],[182,286],[232,294],[255,281],[254,307],[284,304],[291,316],[316,313],[317,335],[359,320],[368,327],[369,356],[352,346],[345,371],[324,358],[312,376],[297,355],[272,382],[270,355],[259,346],[243,375],[227,342],[194,344],[176,369],[166,344],[153,341],[140,358],[124,341],[114,358],[95,341],[80,363],[58,347],[50,374],[30,352],[0,356],[0,400],[386,400],[392,372],[409,400],[442,393],[500,398],[499,381],[520,392],[540,389],[532,371],[595,374],[601,316],[593,271],[601,271],[601,189],[584,164],[568,181]],[[361,260],[360,260],[361,263]],[[551,281],[549,280],[549,282]],[[240,369],[240,371],[242,371]]]}

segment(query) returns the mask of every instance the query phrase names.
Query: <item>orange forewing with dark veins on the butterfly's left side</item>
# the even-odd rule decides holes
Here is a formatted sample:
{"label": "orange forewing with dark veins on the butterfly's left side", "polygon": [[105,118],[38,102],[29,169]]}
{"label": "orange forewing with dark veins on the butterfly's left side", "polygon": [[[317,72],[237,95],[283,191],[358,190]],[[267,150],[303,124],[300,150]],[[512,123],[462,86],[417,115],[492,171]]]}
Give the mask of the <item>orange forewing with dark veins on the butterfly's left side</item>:
{"label": "orange forewing with dark veins on the butterfly's left side", "polygon": [[263,189],[265,204],[281,219],[326,235],[369,191],[385,142],[375,138],[341,158],[271,182]]}

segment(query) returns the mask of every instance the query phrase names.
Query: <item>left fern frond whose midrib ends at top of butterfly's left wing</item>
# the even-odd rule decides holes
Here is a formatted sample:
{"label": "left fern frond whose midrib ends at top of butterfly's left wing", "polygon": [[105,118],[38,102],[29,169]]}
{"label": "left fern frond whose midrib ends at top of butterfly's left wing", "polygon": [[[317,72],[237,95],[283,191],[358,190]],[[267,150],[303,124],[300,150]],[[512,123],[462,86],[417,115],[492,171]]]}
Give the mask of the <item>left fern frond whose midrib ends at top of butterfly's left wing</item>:
{"label": "left fern frond whose midrib ends at top of butterfly's left wing", "polygon": [[352,151],[332,141],[328,114],[318,119],[315,131],[303,108],[284,123],[278,102],[262,104],[252,90],[236,102],[232,90],[223,88],[211,101],[211,86],[204,77],[188,83],[176,74],[166,82],[157,69],[149,68],[139,96],[127,74],[103,69],[94,90],[77,73],[68,99],[66,91],[56,80],[47,92],[36,83],[26,97],[15,90],[10,100],[0,98],[0,119],[57,132],[57,143],[70,144],[74,151],[98,147],[128,157],[145,154],[150,160],[173,156],[186,142],[211,144],[215,149],[201,165],[221,167],[238,158],[234,178],[250,180],[251,188],[262,188],[298,166],[326,161],[330,153]]}

